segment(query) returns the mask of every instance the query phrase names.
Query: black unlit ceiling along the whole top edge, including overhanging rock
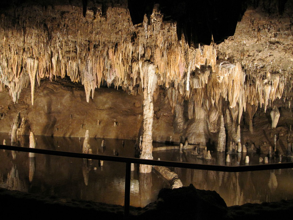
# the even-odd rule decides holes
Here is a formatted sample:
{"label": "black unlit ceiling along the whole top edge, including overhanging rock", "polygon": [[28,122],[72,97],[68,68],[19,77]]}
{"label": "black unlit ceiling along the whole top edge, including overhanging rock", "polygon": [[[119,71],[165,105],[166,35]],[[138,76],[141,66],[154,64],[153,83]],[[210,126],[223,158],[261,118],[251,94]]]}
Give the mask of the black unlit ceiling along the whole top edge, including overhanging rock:
{"label": "black unlit ceiling along the whole top edge, including overhanging rock", "polygon": [[[222,43],[235,33],[247,7],[262,7],[268,13],[282,14],[287,0],[3,0],[1,7],[21,4],[76,5],[83,7],[86,16],[88,5],[120,5],[130,11],[132,23],[142,23],[144,14],[151,15],[154,5],[159,4],[163,21],[177,23],[177,36],[184,35],[186,43],[210,45]],[[0,9],[1,11],[1,9]]]}

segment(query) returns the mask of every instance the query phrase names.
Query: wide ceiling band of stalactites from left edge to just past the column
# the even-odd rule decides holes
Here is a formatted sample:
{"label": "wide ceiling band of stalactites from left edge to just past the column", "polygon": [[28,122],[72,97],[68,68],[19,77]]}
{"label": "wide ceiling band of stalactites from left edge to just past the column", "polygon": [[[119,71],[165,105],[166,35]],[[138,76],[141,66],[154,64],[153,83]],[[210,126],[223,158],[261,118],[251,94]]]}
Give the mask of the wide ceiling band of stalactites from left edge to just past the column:
{"label": "wide ceiling band of stalactites from left edge to just past the column", "polygon": [[[54,9],[50,10],[53,13]],[[207,83],[209,75],[207,70],[202,80],[193,77],[192,70],[202,65],[214,69],[216,65],[214,45],[190,48],[184,37],[178,42],[176,24],[163,23],[156,7],[150,18],[145,17],[143,24],[137,26],[132,25],[129,12],[122,8],[108,9],[106,18],[91,13],[86,18],[81,13],[72,16],[66,10],[63,17],[54,20],[39,13],[28,18],[21,9],[18,13],[20,22],[12,26],[8,18],[4,19],[2,28],[8,31],[0,31],[1,90],[8,86],[13,101],[30,83],[33,104],[35,80],[40,85],[45,77],[52,80],[68,76],[72,82],[81,82],[87,101],[101,83],[121,86],[130,94],[142,93],[138,67],[142,59],[156,66],[158,85],[174,86],[180,94],[189,96],[191,89]],[[98,19],[99,25],[90,20],[91,16]],[[115,26],[110,25],[114,21]]]}

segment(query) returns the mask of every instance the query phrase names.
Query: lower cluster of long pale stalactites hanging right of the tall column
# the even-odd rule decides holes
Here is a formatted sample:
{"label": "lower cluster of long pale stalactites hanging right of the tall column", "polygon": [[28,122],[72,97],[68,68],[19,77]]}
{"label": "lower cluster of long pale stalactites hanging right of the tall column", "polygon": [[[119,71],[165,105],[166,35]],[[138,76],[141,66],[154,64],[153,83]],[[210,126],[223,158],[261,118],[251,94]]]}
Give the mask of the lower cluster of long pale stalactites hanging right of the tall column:
{"label": "lower cluster of long pale stalactites hanging right of the tall column", "polygon": [[[197,83],[193,83],[193,82]],[[200,83],[199,83],[200,82]],[[240,63],[228,61],[218,62],[215,69],[211,66],[201,66],[190,76],[190,91],[169,88],[167,96],[174,111],[176,99],[188,101],[188,118],[192,119],[197,107],[203,107],[207,113],[207,125],[211,132],[218,132],[220,116],[227,114],[234,125],[240,123],[241,116],[248,109],[249,119],[252,120],[258,106],[264,111],[276,99],[281,99],[286,79],[280,74],[267,73],[265,79],[249,78]],[[193,86],[196,85],[196,86]],[[291,99],[288,99],[288,105]],[[237,120],[238,119],[238,120]]]}

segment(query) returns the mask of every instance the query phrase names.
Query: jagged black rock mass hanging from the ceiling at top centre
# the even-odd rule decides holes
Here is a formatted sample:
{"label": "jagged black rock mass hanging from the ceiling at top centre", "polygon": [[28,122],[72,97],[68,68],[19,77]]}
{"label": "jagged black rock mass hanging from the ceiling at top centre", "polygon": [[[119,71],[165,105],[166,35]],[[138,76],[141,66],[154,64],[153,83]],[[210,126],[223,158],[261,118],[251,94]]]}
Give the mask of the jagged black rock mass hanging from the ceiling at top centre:
{"label": "jagged black rock mass hanging from the ceiling at top centre", "polygon": [[144,14],[151,15],[154,4],[160,5],[164,21],[177,22],[178,39],[183,33],[189,45],[209,45],[212,38],[219,44],[233,36],[247,7],[245,0],[129,0],[133,24],[142,23]]}

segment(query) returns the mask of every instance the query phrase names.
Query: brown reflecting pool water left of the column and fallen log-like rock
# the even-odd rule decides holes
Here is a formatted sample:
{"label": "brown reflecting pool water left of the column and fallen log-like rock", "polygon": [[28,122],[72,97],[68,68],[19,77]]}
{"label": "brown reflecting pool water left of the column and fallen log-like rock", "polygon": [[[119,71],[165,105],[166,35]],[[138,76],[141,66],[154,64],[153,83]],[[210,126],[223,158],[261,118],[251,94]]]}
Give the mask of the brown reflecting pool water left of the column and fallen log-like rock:
{"label": "brown reflecting pool water left of the column and fallen log-like rock", "polygon": [[[0,138],[7,137],[0,134]],[[23,136],[18,145],[29,147],[28,139],[28,136]],[[120,156],[134,157],[134,141],[124,140],[124,147],[121,140],[106,139],[104,143],[107,142],[107,146],[101,146],[102,139],[98,138],[90,138],[89,142],[92,152],[113,155],[115,149]],[[38,136],[36,148],[81,153],[82,143],[83,138],[79,141],[79,138]],[[29,158],[26,152],[10,150],[0,152],[0,161],[0,187],[124,205],[125,163],[42,154]],[[152,182],[154,179],[156,181]],[[130,205],[144,207],[156,201],[159,190],[166,187],[166,183],[155,173],[140,177],[135,164],[130,187]],[[141,199],[142,196],[144,199]]]}

